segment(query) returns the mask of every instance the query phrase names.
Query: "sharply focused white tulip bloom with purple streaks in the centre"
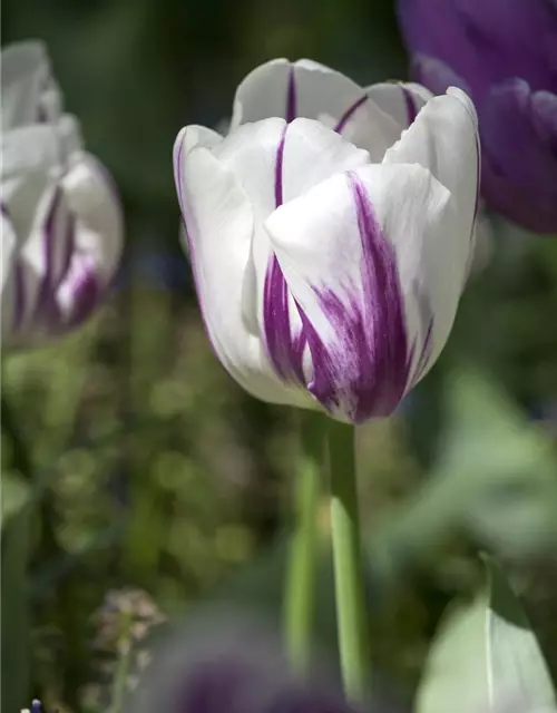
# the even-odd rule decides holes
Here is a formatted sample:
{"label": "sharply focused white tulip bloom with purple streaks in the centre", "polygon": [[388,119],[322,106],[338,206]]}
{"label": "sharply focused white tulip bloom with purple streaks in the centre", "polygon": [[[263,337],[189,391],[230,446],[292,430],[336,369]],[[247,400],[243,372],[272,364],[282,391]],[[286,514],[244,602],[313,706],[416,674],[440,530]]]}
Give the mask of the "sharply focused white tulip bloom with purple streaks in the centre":
{"label": "sharply focused white tulip bloom with purple streaks in the centre", "polygon": [[473,257],[476,111],[459,89],[362,89],[281,59],[226,137],[188,126],[178,198],[213,348],[265,401],[361,423],[434,363]]}

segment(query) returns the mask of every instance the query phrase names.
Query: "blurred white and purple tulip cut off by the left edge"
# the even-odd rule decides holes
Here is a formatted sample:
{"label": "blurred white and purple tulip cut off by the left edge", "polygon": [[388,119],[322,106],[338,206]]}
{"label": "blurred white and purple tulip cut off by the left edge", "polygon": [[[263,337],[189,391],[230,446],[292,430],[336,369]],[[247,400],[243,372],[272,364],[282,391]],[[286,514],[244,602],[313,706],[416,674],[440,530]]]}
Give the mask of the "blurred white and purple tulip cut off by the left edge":
{"label": "blurred white and purple tulip cut off by the left edge", "polygon": [[118,267],[123,216],[110,177],[62,113],[41,42],[0,52],[0,348],[80,325]]}

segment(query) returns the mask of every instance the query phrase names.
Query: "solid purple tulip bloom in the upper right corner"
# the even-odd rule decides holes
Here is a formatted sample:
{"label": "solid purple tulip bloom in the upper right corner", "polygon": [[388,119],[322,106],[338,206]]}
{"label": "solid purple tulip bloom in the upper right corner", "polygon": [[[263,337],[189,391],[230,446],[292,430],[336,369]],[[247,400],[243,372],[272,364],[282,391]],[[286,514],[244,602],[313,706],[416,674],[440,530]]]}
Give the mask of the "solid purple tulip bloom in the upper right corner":
{"label": "solid purple tulip bloom in the upper right corner", "polygon": [[399,18],[417,80],[473,99],[487,204],[557,232],[555,0],[399,0]]}

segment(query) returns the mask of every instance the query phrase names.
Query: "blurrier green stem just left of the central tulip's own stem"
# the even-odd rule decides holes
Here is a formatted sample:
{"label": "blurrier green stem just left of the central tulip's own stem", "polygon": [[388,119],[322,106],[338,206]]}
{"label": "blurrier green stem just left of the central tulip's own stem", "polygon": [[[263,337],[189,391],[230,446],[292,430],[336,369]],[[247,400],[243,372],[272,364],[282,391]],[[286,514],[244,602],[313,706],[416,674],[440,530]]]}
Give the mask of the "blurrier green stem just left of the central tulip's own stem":
{"label": "blurrier green stem just left of the central tulip's own stem", "polygon": [[302,413],[302,453],[295,473],[295,522],[285,592],[286,642],[293,665],[305,673],[310,660],[317,550],[320,467],[324,451],[324,418]]}

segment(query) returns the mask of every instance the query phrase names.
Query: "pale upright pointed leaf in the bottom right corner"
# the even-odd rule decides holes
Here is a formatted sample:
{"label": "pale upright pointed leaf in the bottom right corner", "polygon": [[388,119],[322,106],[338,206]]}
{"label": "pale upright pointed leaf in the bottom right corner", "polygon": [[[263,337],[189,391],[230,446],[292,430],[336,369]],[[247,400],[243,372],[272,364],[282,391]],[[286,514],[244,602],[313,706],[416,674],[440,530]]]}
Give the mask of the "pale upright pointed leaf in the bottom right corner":
{"label": "pale upright pointed leaf in the bottom right corner", "polygon": [[[433,642],[417,713],[556,710],[541,651],[502,569],[485,558],[486,585],[452,606]],[[457,707],[458,703],[458,707]]]}

